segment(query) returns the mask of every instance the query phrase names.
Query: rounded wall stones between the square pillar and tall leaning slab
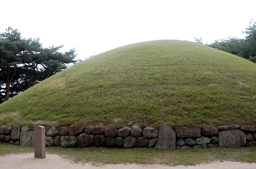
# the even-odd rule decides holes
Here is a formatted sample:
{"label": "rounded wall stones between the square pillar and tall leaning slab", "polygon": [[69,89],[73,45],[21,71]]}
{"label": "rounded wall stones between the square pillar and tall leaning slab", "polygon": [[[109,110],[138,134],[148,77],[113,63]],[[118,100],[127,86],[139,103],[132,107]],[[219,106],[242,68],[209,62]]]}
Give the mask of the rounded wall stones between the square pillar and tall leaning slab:
{"label": "rounded wall stones between the square pillar and tall leaning slab", "polygon": [[[82,131],[84,133],[81,133]],[[77,134],[79,135],[76,137]],[[130,134],[131,136],[129,136]],[[158,130],[147,127],[142,131],[138,126],[123,127],[118,131],[115,127],[107,127],[105,130],[102,127],[87,127],[83,130],[80,126],[71,126],[61,127],[59,131],[53,128],[49,129],[46,135],[47,146],[86,147],[95,145],[96,147],[123,146],[131,148],[134,146],[153,147],[157,140],[155,137],[158,135]],[[53,136],[55,136],[54,139]]]}

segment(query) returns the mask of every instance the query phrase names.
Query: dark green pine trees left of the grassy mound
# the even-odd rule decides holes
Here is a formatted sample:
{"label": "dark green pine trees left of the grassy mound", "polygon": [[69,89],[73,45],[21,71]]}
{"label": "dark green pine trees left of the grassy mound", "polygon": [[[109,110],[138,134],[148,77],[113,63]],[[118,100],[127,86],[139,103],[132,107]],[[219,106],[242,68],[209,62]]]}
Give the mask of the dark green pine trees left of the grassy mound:
{"label": "dark green pine trees left of the grassy mound", "polygon": [[44,48],[38,39],[22,39],[11,27],[0,34],[0,103],[76,61],[75,49],[61,53],[62,46]]}

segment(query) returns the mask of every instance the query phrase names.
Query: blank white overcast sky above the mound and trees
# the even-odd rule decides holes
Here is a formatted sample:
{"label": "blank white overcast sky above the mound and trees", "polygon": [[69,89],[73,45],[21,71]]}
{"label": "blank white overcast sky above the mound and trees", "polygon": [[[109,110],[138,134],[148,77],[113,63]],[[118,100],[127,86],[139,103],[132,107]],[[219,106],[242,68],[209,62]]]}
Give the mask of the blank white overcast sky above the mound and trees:
{"label": "blank white overcast sky above the mound and trees", "polygon": [[203,43],[239,37],[256,1],[4,1],[0,33],[8,26],[23,38],[40,38],[44,47],[76,48],[78,59],[119,46],[159,39]]}

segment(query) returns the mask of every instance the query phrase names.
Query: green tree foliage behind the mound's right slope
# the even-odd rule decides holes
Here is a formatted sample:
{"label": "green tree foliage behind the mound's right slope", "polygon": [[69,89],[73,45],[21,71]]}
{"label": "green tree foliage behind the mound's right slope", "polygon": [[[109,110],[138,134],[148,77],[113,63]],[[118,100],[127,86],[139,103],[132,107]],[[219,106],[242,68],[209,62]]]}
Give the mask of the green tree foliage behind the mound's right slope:
{"label": "green tree foliage behind the mound's right slope", "polygon": [[229,37],[228,39],[216,40],[208,46],[239,55],[256,63],[256,22],[251,21],[244,33],[246,34],[244,39]]}

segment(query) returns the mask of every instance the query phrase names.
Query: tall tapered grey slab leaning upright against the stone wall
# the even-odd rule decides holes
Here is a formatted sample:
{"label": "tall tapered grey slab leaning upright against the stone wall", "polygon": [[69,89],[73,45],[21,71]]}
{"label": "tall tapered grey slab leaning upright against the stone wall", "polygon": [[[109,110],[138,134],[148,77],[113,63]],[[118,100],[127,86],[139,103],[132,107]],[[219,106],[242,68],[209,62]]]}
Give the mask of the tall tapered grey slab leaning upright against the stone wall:
{"label": "tall tapered grey slab leaning upright against the stone wall", "polygon": [[162,125],[159,128],[159,136],[156,144],[156,149],[175,149],[176,135],[172,126]]}

